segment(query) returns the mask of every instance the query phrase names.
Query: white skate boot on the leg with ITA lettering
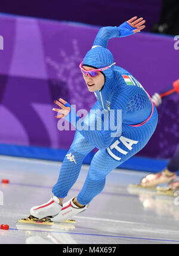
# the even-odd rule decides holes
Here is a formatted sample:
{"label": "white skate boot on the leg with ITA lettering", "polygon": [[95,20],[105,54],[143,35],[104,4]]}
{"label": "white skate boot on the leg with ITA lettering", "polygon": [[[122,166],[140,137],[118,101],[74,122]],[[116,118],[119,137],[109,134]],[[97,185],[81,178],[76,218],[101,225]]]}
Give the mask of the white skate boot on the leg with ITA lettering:
{"label": "white skate boot on the leg with ITA lettering", "polygon": [[79,212],[85,211],[88,208],[88,205],[85,205],[82,208],[76,206],[75,203],[73,203],[74,198],[75,197],[70,199],[68,202],[64,203],[63,208],[61,209],[59,214],[56,215],[55,217],[51,218],[51,220],[54,222],[64,221],[64,220],[67,220],[67,219],[73,217],[76,214],[79,214]]}

